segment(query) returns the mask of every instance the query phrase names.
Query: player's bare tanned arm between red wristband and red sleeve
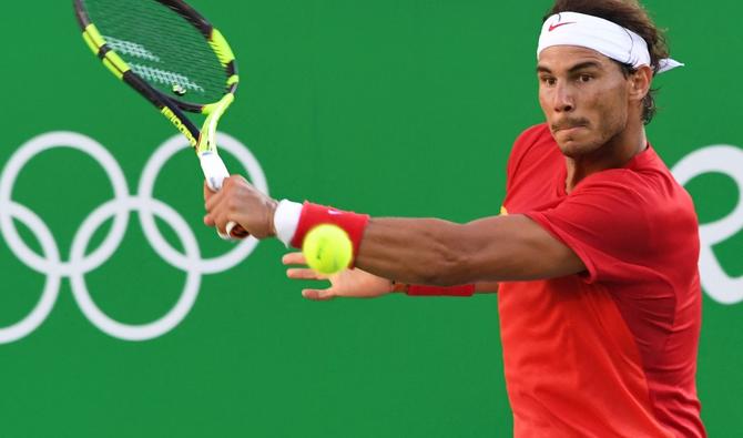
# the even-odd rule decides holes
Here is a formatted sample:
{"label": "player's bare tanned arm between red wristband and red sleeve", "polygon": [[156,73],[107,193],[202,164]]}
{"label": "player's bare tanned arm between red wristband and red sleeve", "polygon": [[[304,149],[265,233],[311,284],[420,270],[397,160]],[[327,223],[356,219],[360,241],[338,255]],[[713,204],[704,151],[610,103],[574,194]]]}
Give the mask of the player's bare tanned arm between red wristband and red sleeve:
{"label": "player's bare tanned arm between red wristband and red sleeve", "polygon": [[386,278],[436,286],[550,278],[586,269],[572,249],[523,215],[465,225],[373,218],[356,265]]}

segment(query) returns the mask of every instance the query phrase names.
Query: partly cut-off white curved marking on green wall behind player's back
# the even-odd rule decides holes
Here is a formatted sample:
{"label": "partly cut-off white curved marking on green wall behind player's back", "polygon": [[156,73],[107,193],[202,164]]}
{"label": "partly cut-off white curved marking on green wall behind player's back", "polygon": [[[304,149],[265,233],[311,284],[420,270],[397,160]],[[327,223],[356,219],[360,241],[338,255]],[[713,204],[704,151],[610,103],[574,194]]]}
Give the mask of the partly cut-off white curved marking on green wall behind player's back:
{"label": "partly cut-off white curved marking on green wall behind player's back", "polygon": [[700,226],[700,276],[702,287],[712,299],[733,305],[743,302],[743,276],[731,278],[720,266],[712,247],[743,230],[743,150],[726,144],[706,146],[673,166],[673,175],[682,185],[710,172],[730,176],[737,185],[739,198],[727,216]]}

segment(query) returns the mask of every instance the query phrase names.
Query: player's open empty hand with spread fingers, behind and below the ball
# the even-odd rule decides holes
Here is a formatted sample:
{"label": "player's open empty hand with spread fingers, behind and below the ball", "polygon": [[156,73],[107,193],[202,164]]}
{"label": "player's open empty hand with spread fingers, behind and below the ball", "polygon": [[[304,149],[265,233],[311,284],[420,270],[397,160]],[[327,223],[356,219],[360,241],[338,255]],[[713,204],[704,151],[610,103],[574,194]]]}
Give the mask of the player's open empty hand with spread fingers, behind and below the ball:
{"label": "player's open empty hand with spread fingers, behind and below the ball", "polygon": [[359,268],[345,269],[335,275],[317,274],[307,267],[302,253],[289,253],[282,257],[285,265],[302,265],[286,269],[286,276],[293,279],[327,279],[330,287],[325,289],[304,289],[302,296],[307,299],[327,301],[337,296],[354,298],[375,298],[391,292],[391,282],[372,275]]}

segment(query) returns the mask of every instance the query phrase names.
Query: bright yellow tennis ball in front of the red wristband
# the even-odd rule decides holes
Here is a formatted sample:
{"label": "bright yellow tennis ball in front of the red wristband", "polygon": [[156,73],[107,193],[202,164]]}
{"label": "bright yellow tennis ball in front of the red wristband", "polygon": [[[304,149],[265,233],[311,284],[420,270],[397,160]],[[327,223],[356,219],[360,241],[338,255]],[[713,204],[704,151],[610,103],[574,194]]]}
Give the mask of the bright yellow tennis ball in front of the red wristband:
{"label": "bright yellow tennis ball in front of the red wristband", "polygon": [[307,233],[302,244],[302,253],[307,265],[315,272],[332,275],[348,267],[354,247],[343,228],[322,224]]}

